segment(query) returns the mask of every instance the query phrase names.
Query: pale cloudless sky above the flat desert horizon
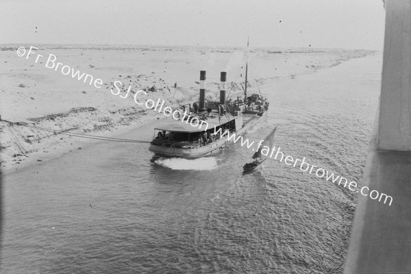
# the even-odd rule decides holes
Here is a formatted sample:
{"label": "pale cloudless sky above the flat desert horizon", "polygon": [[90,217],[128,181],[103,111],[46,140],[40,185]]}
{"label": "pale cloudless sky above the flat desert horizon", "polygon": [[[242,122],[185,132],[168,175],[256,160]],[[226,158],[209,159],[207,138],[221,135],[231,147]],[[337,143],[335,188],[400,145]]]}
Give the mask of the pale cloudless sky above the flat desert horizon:
{"label": "pale cloudless sky above the flat desert horizon", "polygon": [[0,0],[0,44],[379,49],[381,0]]}

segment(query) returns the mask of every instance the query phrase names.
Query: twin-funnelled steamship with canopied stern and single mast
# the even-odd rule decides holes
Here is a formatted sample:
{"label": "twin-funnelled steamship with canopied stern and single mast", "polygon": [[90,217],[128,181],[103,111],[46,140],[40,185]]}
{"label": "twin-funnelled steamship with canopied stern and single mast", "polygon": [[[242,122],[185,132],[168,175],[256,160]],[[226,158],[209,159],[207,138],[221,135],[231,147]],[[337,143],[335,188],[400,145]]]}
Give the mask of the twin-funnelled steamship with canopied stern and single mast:
{"label": "twin-funnelled steamship with canopied stern and single mast", "polygon": [[[260,93],[247,96],[247,65],[244,99],[226,101],[227,73],[221,72],[220,101],[206,103],[206,71],[200,71],[199,103],[181,105],[183,115],[155,127],[149,150],[155,155],[180,158],[201,158],[222,149],[233,134],[243,135],[258,123],[269,108],[266,97]],[[229,131],[229,134],[221,132]]]}

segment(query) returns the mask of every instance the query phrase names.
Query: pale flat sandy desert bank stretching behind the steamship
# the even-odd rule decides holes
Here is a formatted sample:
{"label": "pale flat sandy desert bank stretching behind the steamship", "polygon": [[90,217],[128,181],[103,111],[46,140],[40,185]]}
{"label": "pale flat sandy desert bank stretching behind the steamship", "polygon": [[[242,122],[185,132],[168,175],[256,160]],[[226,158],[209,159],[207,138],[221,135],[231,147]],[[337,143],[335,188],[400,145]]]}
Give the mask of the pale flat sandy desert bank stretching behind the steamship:
{"label": "pale flat sandy desert bank stretching behind the steamship", "polygon": [[[28,47],[29,46],[25,46]],[[236,48],[197,47],[53,47],[36,46],[38,53],[55,55],[62,64],[101,78],[100,89],[60,71],[45,62],[16,55],[17,46],[2,46],[5,71],[0,73],[1,172],[10,173],[90,145],[96,140],[55,134],[27,125],[95,136],[118,136],[163,114],[136,105],[131,95],[145,90],[140,99],[161,99],[166,105],[197,100],[199,71],[208,71],[208,99],[219,93],[219,72],[227,71],[228,92],[242,94],[244,54]],[[251,90],[273,81],[315,73],[375,51],[348,50],[251,50]],[[46,61],[46,60],[44,60]],[[258,76],[257,76],[258,75]],[[115,81],[120,95],[110,89]],[[177,83],[177,88],[174,84]],[[130,88],[129,97],[125,96]]]}

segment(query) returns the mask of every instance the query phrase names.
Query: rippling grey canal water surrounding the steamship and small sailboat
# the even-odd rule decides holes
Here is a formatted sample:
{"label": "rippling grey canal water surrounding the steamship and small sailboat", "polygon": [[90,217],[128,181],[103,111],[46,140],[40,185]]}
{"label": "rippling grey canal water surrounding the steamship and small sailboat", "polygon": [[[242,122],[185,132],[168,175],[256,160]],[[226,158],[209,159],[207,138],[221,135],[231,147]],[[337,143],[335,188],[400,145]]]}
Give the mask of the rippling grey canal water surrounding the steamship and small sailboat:
{"label": "rippling grey canal water surrounding the steamship and small sailboat", "polygon": [[[269,113],[247,138],[279,124],[282,152],[360,182],[377,61],[267,86]],[[252,154],[150,162],[147,145],[100,143],[11,173],[1,273],[340,273],[352,193],[272,159],[242,175]]]}

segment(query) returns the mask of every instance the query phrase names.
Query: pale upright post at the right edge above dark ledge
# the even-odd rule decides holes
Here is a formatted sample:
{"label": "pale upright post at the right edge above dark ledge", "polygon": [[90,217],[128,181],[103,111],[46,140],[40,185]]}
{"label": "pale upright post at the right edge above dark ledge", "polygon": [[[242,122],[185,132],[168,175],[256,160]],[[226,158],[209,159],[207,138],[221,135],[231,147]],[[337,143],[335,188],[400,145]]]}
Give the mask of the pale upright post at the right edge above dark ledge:
{"label": "pale upright post at the right edge above dark ledge", "polygon": [[386,2],[377,148],[411,151],[411,1]]}

